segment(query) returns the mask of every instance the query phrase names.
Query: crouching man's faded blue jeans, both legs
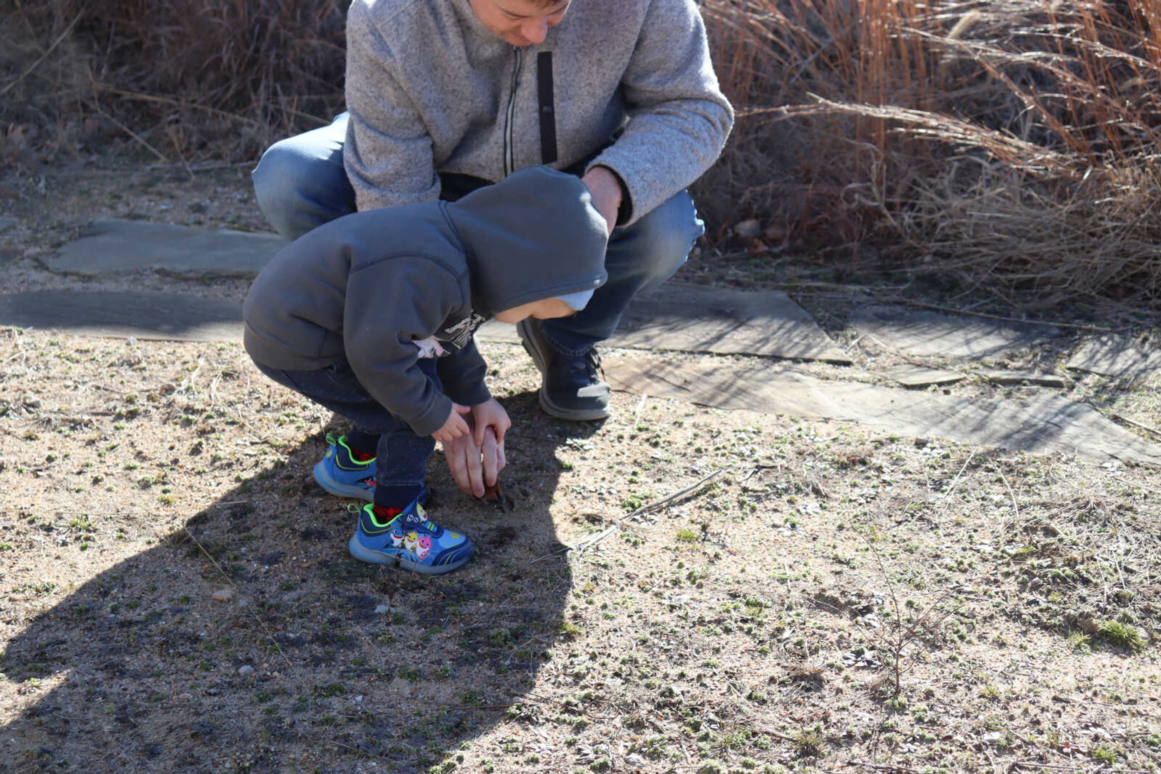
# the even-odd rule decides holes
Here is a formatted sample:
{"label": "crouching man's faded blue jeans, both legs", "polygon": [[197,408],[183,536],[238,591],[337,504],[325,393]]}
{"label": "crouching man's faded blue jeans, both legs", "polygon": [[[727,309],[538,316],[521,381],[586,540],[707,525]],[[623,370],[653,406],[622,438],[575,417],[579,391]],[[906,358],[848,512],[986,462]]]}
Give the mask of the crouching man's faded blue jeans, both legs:
{"label": "crouching man's faded blue jeans, both legs", "polygon": [[[274,230],[295,239],[355,211],[355,193],[342,168],[347,114],[313,131],[272,145],[254,169],[258,205]],[[574,317],[546,320],[543,332],[557,352],[583,355],[613,334],[635,295],[677,272],[705,232],[693,200],[679,191],[636,223],[618,227],[608,241],[608,281]]]}

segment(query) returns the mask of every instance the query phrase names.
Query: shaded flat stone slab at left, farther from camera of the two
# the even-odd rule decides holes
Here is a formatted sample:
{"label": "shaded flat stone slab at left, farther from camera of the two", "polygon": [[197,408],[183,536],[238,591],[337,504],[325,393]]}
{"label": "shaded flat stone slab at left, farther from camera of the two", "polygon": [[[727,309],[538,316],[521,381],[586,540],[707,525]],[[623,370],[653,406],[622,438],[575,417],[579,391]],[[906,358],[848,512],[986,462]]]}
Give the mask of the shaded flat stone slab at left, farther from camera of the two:
{"label": "shaded flat stone slab at left, farther from camera of the two", "polygon": [[178,277],[253,277],[284,245],[275,234],[103,219],[44,263],[84,276],[153,269]]}

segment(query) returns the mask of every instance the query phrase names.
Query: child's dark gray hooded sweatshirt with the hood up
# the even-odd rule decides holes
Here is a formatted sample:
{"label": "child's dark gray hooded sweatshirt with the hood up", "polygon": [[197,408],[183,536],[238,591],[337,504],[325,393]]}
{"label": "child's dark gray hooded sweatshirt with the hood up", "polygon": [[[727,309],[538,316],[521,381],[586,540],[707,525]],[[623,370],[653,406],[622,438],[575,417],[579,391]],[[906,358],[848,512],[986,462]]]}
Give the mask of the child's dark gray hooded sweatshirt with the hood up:
{"label": "child's dark gray hooded sweatshirt with the hood up", "polygon": [[[605,220],[574,175],[528,167],[459,202],[359,212],[300,237],[243,305],[246,352],[268,368],[342,357],[367,392],[431,435],[452,400],[491,396],[473,332],[496,312],[606,279]],[[433,339],[445,393],[418,368]]]}

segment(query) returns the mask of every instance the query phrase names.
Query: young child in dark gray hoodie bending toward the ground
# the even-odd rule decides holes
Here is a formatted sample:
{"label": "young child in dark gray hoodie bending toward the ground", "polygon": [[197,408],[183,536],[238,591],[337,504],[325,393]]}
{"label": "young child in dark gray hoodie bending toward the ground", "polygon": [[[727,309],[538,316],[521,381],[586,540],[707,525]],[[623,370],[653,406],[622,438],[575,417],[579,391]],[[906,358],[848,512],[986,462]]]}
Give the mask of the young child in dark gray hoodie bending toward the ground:
{"label": "young child in dark gray hoodie bending toward the ground", "polygon": [[503,466],[510,421],[473,332],[490,317],[583,309],[606,279],[606,240],[578,178],[527,167],[457,202],[348,215],[267,263],[243,308],[246,352],[279,384],[351,420],[347,435],[327,439],[315,478],[370,501],[352,556],[424,573],[471,558],[471,541],[432,523],[423,504],[435,441],[449,465],[449,449],[478,460],[495,443]]}

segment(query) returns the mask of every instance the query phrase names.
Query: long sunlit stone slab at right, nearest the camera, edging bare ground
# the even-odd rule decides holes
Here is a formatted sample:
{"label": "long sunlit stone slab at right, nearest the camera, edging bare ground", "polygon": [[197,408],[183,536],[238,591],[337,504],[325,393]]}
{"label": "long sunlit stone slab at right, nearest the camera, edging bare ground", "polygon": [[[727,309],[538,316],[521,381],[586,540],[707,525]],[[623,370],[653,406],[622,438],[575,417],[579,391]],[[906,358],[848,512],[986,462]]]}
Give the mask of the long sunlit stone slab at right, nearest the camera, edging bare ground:
{"label": "long sunlit stone slab at right, nearest the camera, edging bare ground", "polygon": [[1091,406],[1054,395],[972,400],[824,381],[773,366],[733,368],[630,359],[606,360],[605,375],[615,390],[700,405],[863,422],[960,443],[1161,464],[1161,446],[1133,435]]}

